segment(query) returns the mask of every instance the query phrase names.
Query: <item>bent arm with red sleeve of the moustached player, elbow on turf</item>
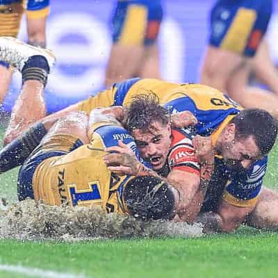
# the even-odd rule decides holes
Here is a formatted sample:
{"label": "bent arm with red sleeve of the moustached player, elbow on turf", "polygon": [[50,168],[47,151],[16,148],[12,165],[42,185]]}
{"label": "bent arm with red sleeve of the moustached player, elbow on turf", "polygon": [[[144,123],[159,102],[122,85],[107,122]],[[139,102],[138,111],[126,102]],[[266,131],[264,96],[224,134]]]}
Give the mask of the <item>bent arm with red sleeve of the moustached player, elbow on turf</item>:
{"label": "bent arm with red sleeve of the moustached player, elbow on turf", "polygon": [[170,163],[172,160],[172,170],[167,178],[181,185],[178,190],[183,196],[176,221],[195,221],[214,170],[211,137],[196,136],[192,144],[190,145],[190,141],[184,142],[184,145],[179,142],[169,154]]}

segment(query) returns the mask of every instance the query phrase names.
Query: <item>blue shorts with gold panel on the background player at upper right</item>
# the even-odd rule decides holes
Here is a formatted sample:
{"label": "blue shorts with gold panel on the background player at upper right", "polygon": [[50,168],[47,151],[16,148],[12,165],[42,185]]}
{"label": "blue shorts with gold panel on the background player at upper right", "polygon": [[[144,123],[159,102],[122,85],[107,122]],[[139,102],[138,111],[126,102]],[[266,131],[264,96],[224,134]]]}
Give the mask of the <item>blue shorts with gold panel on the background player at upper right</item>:
{"label": "blue shorts with gold panel on the background player at upper right", "polygon": [[272,0],[218,0],[211,10],[209,44],[254,56],[272,13]]}

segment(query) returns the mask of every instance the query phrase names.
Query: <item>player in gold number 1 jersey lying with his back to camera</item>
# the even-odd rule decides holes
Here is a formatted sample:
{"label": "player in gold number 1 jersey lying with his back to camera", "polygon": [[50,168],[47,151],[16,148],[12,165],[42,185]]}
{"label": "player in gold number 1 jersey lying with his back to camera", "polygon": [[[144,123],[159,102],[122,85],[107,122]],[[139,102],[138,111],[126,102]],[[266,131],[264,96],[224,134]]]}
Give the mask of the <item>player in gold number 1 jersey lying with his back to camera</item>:
{"label": "player in gold number 1 jersey lying with his back to camera", "polygon": [[88,129],[87,122],[84,113],[56,122],[19,171],[19,199],[31,197],[58,206],[98,205],[108,213],[143,220],[172,217],[179,203],[174,188],[157,177],[111,172],[104,163],[105,148],[118,140],[138,155],[125,129],[109,121],[90,122]]}

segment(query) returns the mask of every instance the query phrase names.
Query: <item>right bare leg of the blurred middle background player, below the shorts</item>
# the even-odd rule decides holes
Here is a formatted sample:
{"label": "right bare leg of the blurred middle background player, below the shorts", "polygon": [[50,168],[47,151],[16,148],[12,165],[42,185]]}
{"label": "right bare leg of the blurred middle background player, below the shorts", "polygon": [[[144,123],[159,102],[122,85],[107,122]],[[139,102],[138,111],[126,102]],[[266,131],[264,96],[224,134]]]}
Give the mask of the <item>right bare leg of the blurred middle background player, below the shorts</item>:
{"label": "right bare leg of the blurred middle background player, below the shorts", "polygon": [[145,47],[143,62],[140,65],[138,76],[142,78],[160,78],[158,45]]}

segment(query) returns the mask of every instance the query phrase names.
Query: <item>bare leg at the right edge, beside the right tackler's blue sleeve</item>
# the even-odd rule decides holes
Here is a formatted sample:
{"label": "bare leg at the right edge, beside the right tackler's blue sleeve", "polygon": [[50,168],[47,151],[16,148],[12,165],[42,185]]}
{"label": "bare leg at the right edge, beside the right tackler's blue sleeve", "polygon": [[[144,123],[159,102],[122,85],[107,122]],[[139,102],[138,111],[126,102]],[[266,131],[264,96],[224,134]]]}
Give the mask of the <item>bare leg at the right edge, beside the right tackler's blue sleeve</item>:
{"label": "bare leg at the right edge, beside the right tackler's blue sleeve", "polygon": [[275,190],[263,188],[247,224],[258,229],[278,230],[278,193]]}

